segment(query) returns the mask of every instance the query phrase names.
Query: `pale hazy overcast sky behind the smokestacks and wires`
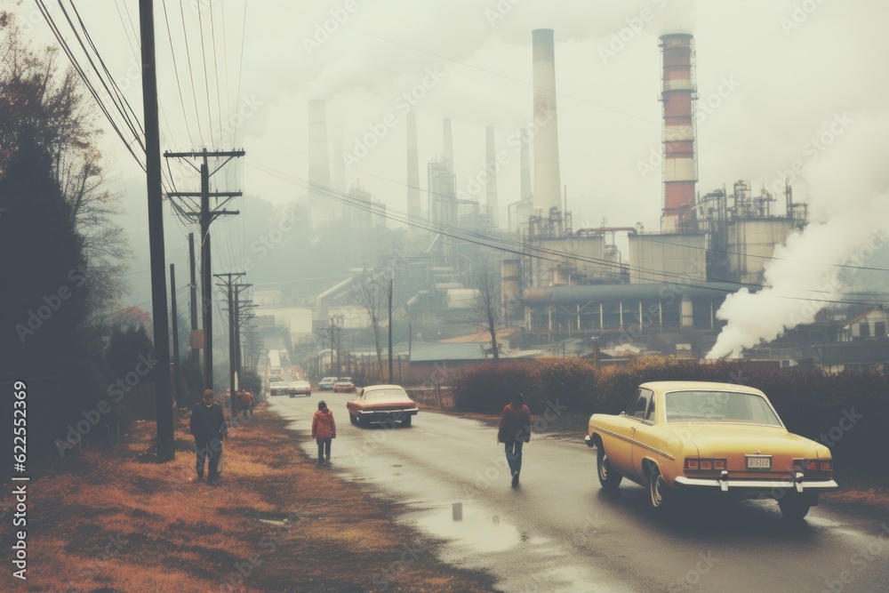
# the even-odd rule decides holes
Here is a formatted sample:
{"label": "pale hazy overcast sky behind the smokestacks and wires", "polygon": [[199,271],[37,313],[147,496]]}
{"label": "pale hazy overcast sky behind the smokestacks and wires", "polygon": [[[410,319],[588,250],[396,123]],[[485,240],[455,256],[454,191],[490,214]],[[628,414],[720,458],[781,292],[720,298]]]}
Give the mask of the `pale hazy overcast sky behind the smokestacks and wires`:
{"label": "pale hazy overcast sky behind the smokestacks and wires", "polygon": [[[138,2],[77,4],[108,68],[141,114],[128,20],[132,16],[138,31]],[[352,164],[348,187],[360,181],[390,209],[404,212],[406,101],[399,98],[413,92],[423,95],[409,105],[418,116],[421,186],[426,164],[442,150],[443,117],[453,119],[458,188],[482,171],[485,126],[493,125],[498,149],[510,158],[498,179],[505,222],[506,204],[519,194],[518,154],[508,140],[531,118],[533,28],[555,30],[561,176],[575,228],[598,226],[604,217],[609,225],[640,221],[646,229],[658,228],[658,36],[677,30],[695,36],[701,193],[741,179],[755,188],[771,186],[795,161],[795,197],[813,202],[816,220],[841,210],[851,193],[885,192],[880,161],[886,137],[871,132],[889,128],[889,4],[877,0],[250,0],[243,27],[241,0],[182,0],[182,12],[179,0],[165,4],[183,100],[164,2],[156,1],[161,148],[243,147],[244,163],[228,179],[218,178],[220,188],[243,188],[276,204],[303,191],[266,171],[308,178],[308,100],[324,99],[336,164],[343,151],[354,154],[373,126],[386,127],[377,145]],[[31,36],[37,44],[56,44],[33,4],[3,5],[35,23]],[[58,6],[50,10],[63,21]],[[63,31],[73,43],[67,25]],[[236,117],[238,109],[242,116]],[[387,116],[395,122],[391,127],[384,124]],[[107,147],[118,183],[127,189],[133,247],[147,251],[144,178],[112,133]],[[189,183],[197,188],[190,168],[180,165],[173,173],[180,189]],[[815,180],[824,179],[837,182],[819,196]],[[249,216],[249,200],[236,207]],[[181,236],[184,227],[171,219],[167,228]],[[242,237],[232,244],[230,259],[238,260],[250,242]]]}

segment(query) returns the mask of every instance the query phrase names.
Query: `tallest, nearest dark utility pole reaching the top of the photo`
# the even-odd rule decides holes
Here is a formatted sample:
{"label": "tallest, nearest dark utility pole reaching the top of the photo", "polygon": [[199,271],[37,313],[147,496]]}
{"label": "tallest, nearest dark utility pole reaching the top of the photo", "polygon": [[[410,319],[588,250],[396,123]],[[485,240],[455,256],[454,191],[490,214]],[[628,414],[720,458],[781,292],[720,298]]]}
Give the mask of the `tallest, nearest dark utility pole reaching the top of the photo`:
{"label": "tallest, nearest dark utility pole reaching the top of the photo", "polygon": [[145,170],[148,189],[148,251],[151,253],[151,317],[155,333],[155,399],[157,455],[175,457],[170,394],[170,327],[167,323],[166,266],[164,265],[164,199],[161,188],[161,140],[157,121],[155,20],[151,0],[139,0],[142,48],[142,105],[145,116]]}

